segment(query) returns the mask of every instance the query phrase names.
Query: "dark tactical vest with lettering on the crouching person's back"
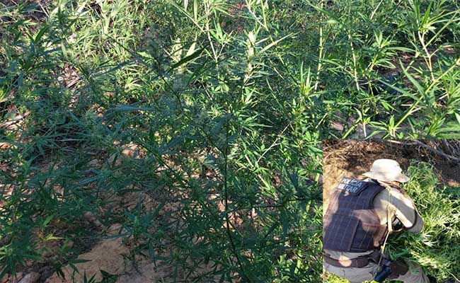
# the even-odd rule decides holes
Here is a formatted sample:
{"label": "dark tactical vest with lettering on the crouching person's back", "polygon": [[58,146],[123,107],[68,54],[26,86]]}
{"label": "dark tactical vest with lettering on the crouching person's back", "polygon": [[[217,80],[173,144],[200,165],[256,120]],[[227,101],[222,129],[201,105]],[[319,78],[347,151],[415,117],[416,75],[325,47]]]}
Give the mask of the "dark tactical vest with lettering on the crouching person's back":
{"label": "dark tactical vest with lettering on the crouching person's back", "polygon": [[323,248],[361,253],[378,248],[387,226],[380,224],[372,202],[385,187],[343,178],[323,217]]}

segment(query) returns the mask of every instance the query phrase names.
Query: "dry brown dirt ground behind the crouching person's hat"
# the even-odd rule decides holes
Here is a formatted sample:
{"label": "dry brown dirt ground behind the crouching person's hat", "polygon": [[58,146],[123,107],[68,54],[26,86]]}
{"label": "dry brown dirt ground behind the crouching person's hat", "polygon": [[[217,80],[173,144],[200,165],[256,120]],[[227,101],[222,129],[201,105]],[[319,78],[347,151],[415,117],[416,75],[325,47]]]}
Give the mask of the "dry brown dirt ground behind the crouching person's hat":
{"label": "dry brown dirt ground behind the crouching person's hat", "polygon": [[[441,141],[439,141],[441,142]],[[460,143],[460,140],[446,142]],[[431,163],[439,181],[451,187],[460,187],[460,163],[419,144],[408,141],[359,141],[355,139],[329,139],[323,141],[323,211],[326,211],[330,192],[343,177],[364,179],[372,162],[379,158],[391,158],[406,171],[410,160]],[[430,141],[428,141],[430,144]],[[456,153],[455,153],[456,154]],[[455,156],[459,158],[460,156]]]}

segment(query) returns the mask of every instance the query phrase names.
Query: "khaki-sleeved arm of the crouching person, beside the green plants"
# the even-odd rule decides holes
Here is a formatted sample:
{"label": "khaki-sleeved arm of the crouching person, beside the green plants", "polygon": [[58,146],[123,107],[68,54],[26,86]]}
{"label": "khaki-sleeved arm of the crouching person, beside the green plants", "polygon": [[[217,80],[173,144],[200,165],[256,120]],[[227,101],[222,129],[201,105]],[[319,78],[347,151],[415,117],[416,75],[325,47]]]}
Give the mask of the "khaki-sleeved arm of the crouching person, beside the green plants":
{"label": "khaki-sleeved arm of the crouching person, beside the green plants", "polygon": [[395,207],[395,216],[401,221],[407,231],[420,233],[423,229],[423,219],[415,209],[415,204],[403,190],[391,190],[391,204]]}

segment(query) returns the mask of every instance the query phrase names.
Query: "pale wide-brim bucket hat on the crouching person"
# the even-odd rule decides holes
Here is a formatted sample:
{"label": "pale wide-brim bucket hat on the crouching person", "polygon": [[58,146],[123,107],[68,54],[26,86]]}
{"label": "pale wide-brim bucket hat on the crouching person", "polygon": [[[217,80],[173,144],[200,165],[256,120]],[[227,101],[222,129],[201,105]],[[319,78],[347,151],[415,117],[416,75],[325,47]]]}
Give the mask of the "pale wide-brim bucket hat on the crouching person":
{"label": "pale wide-brim bucket hat on the crouching person", "polygon": [[409,177],[403,174],[403,169],[393,159],[377,159],[372,163],[371,170],[362,174],[374,180],[406,183]]}

